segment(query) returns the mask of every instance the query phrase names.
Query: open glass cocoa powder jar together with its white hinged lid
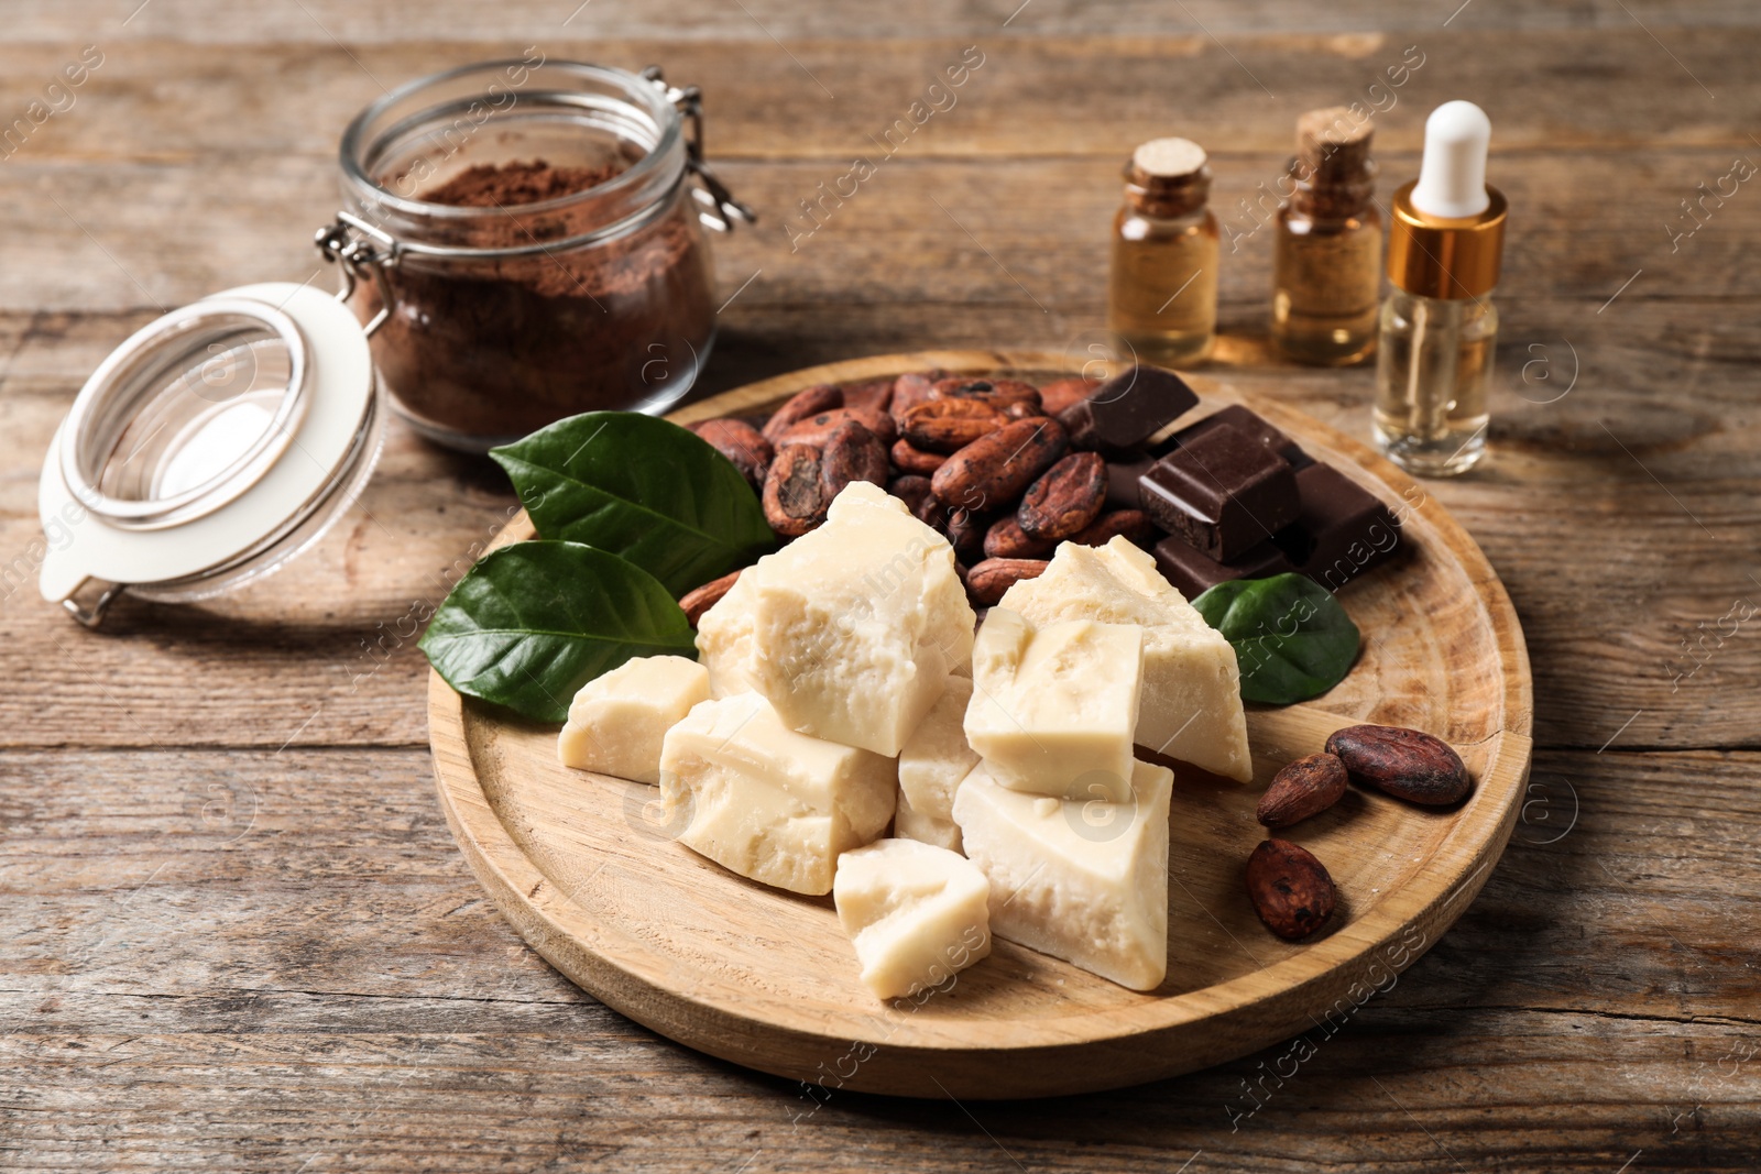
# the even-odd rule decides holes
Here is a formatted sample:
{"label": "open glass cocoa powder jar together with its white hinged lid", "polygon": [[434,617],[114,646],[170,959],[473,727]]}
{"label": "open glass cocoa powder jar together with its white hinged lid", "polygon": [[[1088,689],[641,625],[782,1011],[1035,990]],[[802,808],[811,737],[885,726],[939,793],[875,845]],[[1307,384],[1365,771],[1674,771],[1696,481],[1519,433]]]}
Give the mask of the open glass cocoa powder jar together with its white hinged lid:
{"label": "open glass cocoa powder jar together with its white hinged lid", "polygon": [[488,449],[593,408],[659,412],[715,338],[703,227],[752,215],[703,165],[696,90],[519,62],[417,81],[343,136],[319,231],[343,289],[269,282],[123,340],[44,456],[44,598],[210,598],[287,565],[372,477],[384,394]]}

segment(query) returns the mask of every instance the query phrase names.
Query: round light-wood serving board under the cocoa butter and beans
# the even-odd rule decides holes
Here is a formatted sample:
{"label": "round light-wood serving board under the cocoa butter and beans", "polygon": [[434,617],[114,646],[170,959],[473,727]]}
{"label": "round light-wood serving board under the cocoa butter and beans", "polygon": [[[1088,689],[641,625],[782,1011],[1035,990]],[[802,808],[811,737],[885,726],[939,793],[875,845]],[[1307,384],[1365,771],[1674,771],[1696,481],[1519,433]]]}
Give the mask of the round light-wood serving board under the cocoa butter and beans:
{"label": "round light-wood serving board under the cocoa butter and beans", "polygon": [[[1037,352],[879,356],[796,371],[690,405],[692,422],[764,412],[812,384],[902,371],[1069,373]],[[528,943],[583,989],[689,1047],[805,1088],[801,1112],[851,1088],[912,1097],[1046,1097],[1190,1072],[1300,1031],[1331,1033],[1432,947],[1486,882],[1529,774],[1522,628],[1472,539],[1393,465],[1298,412],[1245,401],[1389,502],[1404,561],[1340,593],[1363,630],[1351,676],[1307,706],[1249,708],[1249,787],[1175,771],[1168,980],[1139,994],[998,940],[919,1005],[875,1000],[829,898],[748,882],[678,845],[659,789],[556,762],[556,727],[500,716],[433,676],[428,723],[446,817]],[[498,540],[530,539],[525,516]],[[1264,838],[1254,804],[1287,760],[1340,725],[1382,722],[1453,743],[1474,776],[1455,810],[1352,789],[1286,834],[1333,873],[1338,910],[1303,943],[1271,936],[1245,892]]]}

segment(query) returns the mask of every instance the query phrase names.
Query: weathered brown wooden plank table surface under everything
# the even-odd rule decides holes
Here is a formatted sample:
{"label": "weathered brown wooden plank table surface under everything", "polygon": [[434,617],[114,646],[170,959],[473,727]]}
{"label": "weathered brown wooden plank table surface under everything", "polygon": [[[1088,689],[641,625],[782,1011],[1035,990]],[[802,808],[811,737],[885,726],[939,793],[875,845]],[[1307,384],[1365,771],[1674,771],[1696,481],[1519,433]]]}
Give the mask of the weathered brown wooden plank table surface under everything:
{"label": "weathered brown wooden plank table surface under everything", "polygon": [[[0,1167],[1761,1169],[1749,0],[576,4],[5,5]],[[1213,373],[1359,435],[1368,371],[1266,354],[1256,185],[1307,107],[1384,111],[1384,194],[1435,104],[1486,107],[1513,206],[1493,456],[1433,493],[1523,618],[1532,799],[1456,928],[1300,1068],[808,1116],[581,994],[483,896],[430,776],[412,616],[512,495],[402,424],[363,505],[252,590],[123,600],[102,634],[37,598],[39,461],[99,359],[217,289],[329,283],[310,234],[354,111],[528,46],[704,86],[764,218],[718,243],[708,391],[923,345],[1083,354],[1122,160],[1189,134],[1236,245]],[[807,234],[799,201],[969,46],[956,104]]]}

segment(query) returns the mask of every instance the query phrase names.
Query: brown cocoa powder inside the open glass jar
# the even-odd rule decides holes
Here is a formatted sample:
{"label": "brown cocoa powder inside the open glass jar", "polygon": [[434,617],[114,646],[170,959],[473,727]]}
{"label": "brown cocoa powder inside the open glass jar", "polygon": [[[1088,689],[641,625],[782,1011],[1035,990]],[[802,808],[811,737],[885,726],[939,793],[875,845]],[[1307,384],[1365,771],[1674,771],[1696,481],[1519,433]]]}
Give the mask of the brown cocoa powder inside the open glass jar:
{"label": "brown cocoa powder inside the open glass jar", "polygon": [[[423,239],[509,248],[592,232],[630,211],[613,208],[615,192],[593,195],[630,162],[479,164],[421,199],[484,215],[437,216]],[[664,199],[657,218],[609,241],[525,257],[405,253],[386,271],[396,305],[373,334],[403,408],[483,447],[565,415],[634,407],[687,377],[713,331],[711,269],[685,185]],[[379,313],[373,283],[356,301],[363,322]]]}

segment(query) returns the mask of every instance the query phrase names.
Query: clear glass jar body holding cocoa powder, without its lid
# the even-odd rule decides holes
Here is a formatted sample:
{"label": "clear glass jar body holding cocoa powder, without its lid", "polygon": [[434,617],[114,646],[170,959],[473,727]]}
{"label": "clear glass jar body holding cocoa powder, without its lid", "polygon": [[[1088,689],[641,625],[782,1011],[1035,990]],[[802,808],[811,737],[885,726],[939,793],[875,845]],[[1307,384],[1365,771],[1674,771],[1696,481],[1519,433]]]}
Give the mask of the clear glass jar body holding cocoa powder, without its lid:
{"label": "clear glass jar body holding cocoa powder, without its lid", "polygon": [[342,187],[319,241],[393,405],[470,451],[683,396],[715,340],[703,229],[750,220],[703,165],[696,88],[535,53],[368,106]]}

